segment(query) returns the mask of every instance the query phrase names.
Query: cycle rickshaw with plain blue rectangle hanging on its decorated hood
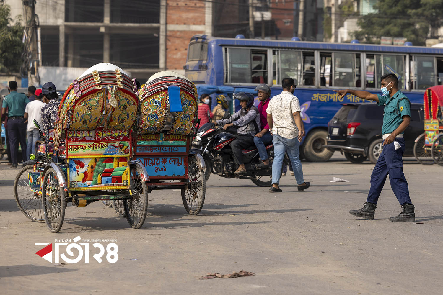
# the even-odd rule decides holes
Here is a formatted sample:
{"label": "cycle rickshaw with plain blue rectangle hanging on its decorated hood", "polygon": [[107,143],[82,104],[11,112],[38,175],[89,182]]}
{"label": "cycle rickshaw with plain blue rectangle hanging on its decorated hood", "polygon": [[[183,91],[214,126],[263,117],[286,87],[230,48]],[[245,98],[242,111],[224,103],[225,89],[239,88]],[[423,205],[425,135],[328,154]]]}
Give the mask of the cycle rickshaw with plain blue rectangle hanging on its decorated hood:
{"label": "cycle rickshaw with plain blue rectangle hanging on its decorated hood", "polygon": [[191,215],[203,207],[205,162],[190,149],[198,129],[197,89],[187,77],[171,71],[154,74],[137,92],[140,118],[134,158],[148,172],[149,192],[180,189]]}

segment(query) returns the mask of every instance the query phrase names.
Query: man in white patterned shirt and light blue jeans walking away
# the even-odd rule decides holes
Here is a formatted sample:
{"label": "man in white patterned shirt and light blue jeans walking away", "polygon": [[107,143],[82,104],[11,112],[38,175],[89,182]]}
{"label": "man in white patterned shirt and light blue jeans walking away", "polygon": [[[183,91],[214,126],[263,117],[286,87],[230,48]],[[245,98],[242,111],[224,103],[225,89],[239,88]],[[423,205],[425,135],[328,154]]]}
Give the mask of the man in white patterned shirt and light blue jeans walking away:
{"label": "man in white patterned shirt and light blue jeans walking away", "polygon": [[292,78],[283,78],[283,92],[272,97],[266,112],[267,120],[274,144],[274,161],[272,162],[272,187],[270,192],[282,192],[278,187],[281,175],[281,166],[285,150],[291,160],[297,180],[299,192],[303,192],[311,185],[303,180],[302,163],[299,158],[300,142],[303,138],[303,125],[300,117],[300,102],[294,96],[295,83]]}

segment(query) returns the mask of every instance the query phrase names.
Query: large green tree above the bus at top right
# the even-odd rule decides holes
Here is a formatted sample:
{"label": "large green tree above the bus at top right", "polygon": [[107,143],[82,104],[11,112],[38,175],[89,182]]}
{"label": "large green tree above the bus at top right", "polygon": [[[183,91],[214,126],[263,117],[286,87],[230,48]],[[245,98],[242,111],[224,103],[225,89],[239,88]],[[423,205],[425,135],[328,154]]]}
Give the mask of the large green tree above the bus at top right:
{"label": "large green tree above the bus at top right", "polygon": [[377,13],[358,21],[360,31],[355,38],[361,42],[377,43],[381,36],[404,37],[414,45],[425,45],[429,29],[443,24],[441,0],[379,0]]}

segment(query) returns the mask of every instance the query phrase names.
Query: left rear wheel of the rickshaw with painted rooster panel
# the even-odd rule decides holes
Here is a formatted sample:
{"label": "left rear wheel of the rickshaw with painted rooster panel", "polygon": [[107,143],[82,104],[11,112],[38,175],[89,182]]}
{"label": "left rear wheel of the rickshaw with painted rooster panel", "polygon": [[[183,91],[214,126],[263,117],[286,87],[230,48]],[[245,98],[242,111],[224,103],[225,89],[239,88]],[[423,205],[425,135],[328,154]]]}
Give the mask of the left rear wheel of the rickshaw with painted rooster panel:
{"label": "left rear wheel of the rickshaw with painted rooster panel", "polygon": [[66,192],[60,188],[57,174],[49,168],[43,177],[42,203],[48,229],[58,233],[62,228],[66,209]]}

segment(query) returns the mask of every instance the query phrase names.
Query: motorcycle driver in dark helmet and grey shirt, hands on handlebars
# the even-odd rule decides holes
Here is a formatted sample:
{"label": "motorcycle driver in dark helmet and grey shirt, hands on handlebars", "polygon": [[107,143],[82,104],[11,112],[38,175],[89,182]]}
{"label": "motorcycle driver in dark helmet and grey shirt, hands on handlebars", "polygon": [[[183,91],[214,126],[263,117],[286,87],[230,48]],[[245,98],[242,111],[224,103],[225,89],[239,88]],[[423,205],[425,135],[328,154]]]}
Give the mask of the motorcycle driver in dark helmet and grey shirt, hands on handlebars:
{"label": "motorcycle driver in dark helmet and grey shirt, hands on handlebars", "polygon": [[228,119],[216,121],[215,125],[224,124],[223,129],[231,126],[240,127],[237,129],[238,138],[231,143],[231,149],[234,160],[240,165],[234,174],[241,174],[246,172],[241,149],[254,145],[254,136],[260,132],[260,114],[254,106],[254,96],[251,93],[239,92],[233,97],[240,100],[241,110]]}

